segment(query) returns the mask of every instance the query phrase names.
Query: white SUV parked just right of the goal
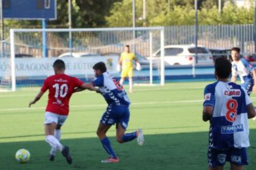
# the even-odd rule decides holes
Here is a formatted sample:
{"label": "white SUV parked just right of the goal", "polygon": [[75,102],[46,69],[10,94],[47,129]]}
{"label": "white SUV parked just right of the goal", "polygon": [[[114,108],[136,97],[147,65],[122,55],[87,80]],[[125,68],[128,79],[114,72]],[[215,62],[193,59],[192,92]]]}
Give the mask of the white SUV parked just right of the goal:
{"label": "white SUV parked just right of the goal", "polygon": [[[195,52],[195,45],[166,45],[164,46],[164,62],[166,65],[193,64]],[[158,49],[153,57],[159,58],[160,53]],[[213,63],[212,54],[202,45],[197,46],[197,63]]]}

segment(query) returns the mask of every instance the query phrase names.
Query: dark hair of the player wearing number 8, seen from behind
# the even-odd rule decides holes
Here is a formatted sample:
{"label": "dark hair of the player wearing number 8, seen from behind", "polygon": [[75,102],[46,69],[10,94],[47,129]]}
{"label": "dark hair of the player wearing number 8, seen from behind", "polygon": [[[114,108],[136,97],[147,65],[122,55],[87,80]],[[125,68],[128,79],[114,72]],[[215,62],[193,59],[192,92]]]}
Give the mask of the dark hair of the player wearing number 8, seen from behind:
{"label": "dark hair of the player wearing number 8, seen from behind", "polygon": [[231,74],[232,64],[226,58],[216,58],[214,67],[220,78],[228,78]]}

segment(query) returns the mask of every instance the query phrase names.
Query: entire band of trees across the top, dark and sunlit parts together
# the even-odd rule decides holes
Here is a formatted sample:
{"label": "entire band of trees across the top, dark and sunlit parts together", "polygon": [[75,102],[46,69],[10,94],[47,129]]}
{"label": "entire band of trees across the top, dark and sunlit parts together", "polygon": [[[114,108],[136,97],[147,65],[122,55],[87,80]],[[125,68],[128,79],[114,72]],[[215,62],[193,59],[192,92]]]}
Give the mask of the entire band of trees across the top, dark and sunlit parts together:
{"label": "entire band of trees across the top, dark and sunlit parts together", "polygon": [[[254,23],[254,0],[251,6],[238,8],[231,0],[198,0],[198,23]],[[143,0],[135,0],[136,26],[192,25],[195,20],[194,0],[146,0],[146,19],[142,19]],[[68,0],[57,1],[57,19],[48,21],[49,28],[68,27]],[[9,28],[41,28],[39,20],[4,20]],[[132,0],[72,0],[72,28],[131,27]],[[7,37],[7,35],[5,36]]]}

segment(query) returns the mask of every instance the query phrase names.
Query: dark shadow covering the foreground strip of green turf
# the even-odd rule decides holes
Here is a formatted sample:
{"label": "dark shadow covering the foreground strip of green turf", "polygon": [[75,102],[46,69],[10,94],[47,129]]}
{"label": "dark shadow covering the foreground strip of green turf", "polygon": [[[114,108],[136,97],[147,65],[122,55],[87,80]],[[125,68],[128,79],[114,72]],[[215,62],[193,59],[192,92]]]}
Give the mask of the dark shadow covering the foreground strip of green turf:
{"label": "dark shadow covering the foreground strip of green turf", "polygon": [[[248,149],[249,166],[256,169],[256,129],[250,131],[251,145]],[[145,135],[145,144],[136,141],[118,144],[110,138],[113,149],[120,158],[118,164],[102,164],[107,157],[98,138],[62,140],[70,147],[73,164],[69,165],[60,153],[56,160],[48,160],[49,146],[45,141],[22,141],[0,143],[0,170],[207,170],[207,132]],[[20,148],[30,151],[28,164],[19,164],[14,155]]]}

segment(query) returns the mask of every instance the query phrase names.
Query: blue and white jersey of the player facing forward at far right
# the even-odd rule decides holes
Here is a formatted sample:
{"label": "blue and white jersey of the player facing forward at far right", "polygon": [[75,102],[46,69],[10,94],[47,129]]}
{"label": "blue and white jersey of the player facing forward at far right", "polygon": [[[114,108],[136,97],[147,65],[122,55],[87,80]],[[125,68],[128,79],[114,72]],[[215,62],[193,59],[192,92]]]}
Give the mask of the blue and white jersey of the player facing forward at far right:
{"label": "blue and white jersey of the player facing forward at far right", "polygon": [[241,83],[253,81],[253,65],[244,58],[241,58],[237,63],[232,61],[232,76],[239,75]]}

